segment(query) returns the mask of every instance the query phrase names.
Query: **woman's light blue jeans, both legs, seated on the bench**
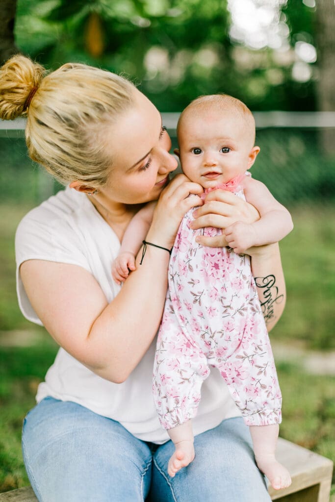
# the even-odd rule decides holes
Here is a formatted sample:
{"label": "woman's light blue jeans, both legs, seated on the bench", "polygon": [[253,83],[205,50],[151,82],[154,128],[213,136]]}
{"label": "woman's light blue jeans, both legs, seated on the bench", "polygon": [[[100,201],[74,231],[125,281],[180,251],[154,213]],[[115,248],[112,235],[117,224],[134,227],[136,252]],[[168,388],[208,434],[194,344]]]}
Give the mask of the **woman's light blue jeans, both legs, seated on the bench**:
{"label": "woman's light blue jeans, both legs, seated on the bench", "polygon": [[174,451],[114,420],[46,398],[25,418],[23,454],[40,502],[270,502],[242,418],[195,437],[195,459],[174,478]]}

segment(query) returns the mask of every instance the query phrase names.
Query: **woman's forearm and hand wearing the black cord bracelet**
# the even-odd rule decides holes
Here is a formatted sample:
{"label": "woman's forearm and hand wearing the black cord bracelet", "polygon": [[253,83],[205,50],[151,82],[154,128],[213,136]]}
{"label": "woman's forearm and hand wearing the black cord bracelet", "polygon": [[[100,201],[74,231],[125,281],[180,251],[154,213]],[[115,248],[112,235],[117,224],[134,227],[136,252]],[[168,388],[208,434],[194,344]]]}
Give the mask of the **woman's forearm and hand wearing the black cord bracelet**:
{"label": "woman's forearm and hand wearing the black cord bracelet", "polygon": [[[161,195],[146,240],[165,249],[148,245],[142,265],[140,250],[136,270],[91,327],[88,340],[98,351],[92,369],[102,378],[126,380],[155,337],[167,291],[168,250],[183,215],[201,203],[199,197],[188,197],[189,193],[202,193],[202,187],[181,175]],[[104,346],[108,350],[101,353]]]}

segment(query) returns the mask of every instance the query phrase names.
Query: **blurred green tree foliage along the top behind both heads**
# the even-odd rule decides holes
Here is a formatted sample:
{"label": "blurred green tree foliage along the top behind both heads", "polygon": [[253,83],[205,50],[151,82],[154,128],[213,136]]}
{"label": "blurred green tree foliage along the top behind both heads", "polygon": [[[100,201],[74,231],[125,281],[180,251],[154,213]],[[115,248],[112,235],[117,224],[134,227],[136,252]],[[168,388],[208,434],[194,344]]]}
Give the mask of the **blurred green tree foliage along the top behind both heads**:
{"label": "blurred green tree foliage along the top behind both heads", "polygon": [[[301,33],[312,38],[312,9],[290,0],[284,12],[292,44]],[[80,61],[136,79],[161,111],[216,92],[252,109],[315,107],[313,81],[292,81],[292,61],[270,48],[232,44],[230,25],[227,0],[18,0],[15,33],[18,47],[51,69]],[[95,55],[94,37],[102,44]]]}

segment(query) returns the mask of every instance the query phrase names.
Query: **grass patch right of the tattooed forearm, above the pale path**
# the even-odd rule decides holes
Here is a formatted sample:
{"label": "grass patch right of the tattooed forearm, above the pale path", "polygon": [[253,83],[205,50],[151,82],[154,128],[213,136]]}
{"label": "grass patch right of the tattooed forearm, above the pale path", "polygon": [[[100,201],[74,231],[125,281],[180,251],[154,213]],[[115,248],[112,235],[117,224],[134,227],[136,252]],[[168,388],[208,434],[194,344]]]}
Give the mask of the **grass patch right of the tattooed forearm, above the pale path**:
{"label": "grass patch right of the tattooed forearm, above the pale path", "polygon": [[335,348],[335,204],[292,210],[294,229],[280,243],[287,302],[271,337]]}

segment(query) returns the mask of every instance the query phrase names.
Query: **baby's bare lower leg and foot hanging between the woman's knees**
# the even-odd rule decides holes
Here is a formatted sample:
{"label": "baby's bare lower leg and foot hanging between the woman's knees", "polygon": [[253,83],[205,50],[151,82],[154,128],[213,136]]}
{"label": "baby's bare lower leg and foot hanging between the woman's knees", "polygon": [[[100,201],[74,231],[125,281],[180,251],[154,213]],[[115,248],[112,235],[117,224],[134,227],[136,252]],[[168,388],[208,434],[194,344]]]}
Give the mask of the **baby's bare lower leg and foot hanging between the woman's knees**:
{"label": "baby's bare lower leg and foot hanging between the woman's knees", "polygon": [[192,421],[187,420],[187,422],[177,425],[167,432],[176,448],[168,465],[168,473],[171,477],[174,477],[178,470],[186,467],[194,459]]}

